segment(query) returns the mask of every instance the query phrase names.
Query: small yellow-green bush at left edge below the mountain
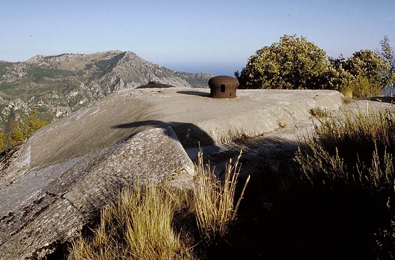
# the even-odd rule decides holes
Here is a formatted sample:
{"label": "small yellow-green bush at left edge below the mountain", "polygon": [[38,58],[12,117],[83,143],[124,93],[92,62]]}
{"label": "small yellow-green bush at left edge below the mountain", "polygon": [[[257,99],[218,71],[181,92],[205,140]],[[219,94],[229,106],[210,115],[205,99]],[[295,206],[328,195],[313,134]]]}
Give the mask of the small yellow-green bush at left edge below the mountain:
{"label": "small yellow-green bush at left edge below the mountain", "polygon": [[11,122],[7,133],[0,132],[0,152],[11,150],[46,124],[46,121],[37,118],[35,110],[31,111],[29,116],[22,118],[22,123]]}

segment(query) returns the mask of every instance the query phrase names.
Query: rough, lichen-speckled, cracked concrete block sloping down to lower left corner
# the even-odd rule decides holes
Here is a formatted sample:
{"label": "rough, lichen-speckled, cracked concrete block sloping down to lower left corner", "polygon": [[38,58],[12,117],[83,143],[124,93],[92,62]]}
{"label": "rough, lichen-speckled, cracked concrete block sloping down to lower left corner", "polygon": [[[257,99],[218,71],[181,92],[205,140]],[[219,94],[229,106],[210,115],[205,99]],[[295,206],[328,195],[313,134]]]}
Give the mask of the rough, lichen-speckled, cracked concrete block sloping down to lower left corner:
{"label": "rough, lichen-speckled, cracked concrete block sloping down to lower left corner", "polygon": [[[166,156],[172,156],[172,161],[164,160]],[[194,174],[194,165],[171,127],[147,129],[83,157],[78,165],[67,169],[0,220],[0,257],[41,258],[57,245],[71,241],[92,215],[111,200],[120,185],[130,184],[136,174],[149,172],[146,178],[154,181],[171,178],[181,185],[190,182]],[[144,166],[148,168],[133,171]],[[25,176],[30,174],[34,173]],[[179,180],[180,176],[187,179]],[[10,230],[13,225],[16,232]]]}

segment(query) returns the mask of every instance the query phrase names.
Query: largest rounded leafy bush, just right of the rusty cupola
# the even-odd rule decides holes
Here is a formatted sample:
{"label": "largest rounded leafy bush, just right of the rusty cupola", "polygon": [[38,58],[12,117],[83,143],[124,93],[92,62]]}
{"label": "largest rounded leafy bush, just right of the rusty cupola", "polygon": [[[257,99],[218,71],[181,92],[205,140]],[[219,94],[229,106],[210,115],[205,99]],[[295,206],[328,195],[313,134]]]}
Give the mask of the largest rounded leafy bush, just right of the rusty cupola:
{"label": "largest rounded leafy bush, just right of the rusty cupola", "polygon": [[326,52],[306,38],[284,35],[250,56],[235,76],[240,88],[321,89],[326,58]]}

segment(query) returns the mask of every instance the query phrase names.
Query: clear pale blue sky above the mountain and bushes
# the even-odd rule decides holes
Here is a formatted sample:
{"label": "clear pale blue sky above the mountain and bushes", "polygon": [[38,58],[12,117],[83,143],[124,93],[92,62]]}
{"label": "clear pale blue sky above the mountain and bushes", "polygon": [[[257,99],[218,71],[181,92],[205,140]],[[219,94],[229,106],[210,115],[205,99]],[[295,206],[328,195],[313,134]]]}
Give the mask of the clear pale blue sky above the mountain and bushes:
{"label": "clear pale blue sky above the mountain and bushes", "polygon": [[130,50],[162,66],[233,75],[284,34],[330,56],[395,47],[395,1],[1,0],[0,60]]}

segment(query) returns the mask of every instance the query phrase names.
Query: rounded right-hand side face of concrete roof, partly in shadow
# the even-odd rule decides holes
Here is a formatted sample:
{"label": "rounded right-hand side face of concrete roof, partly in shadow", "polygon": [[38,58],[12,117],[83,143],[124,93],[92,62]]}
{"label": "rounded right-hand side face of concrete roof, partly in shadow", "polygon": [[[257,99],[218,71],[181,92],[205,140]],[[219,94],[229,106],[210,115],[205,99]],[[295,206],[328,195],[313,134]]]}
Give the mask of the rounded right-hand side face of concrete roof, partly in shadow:
{"label": "rounded right-hand side face of concrete roof, partly in shadow", "polygon": [[[298,104],[284,104],[274,107],[258,108],[227,120],[210,119],[174,126],[175,132],[184,148],[200,145],[231,143],[243,135],[258,137],[279,129],[279,123],[293,125],[311,117],[309,110],[321,108],[333,111],[343,105],[343,94],[331,91],[330,94],[312,95]],[[264,104],[264,103],[263,103]],[[283,108],[283,109],[281,109]]]}

